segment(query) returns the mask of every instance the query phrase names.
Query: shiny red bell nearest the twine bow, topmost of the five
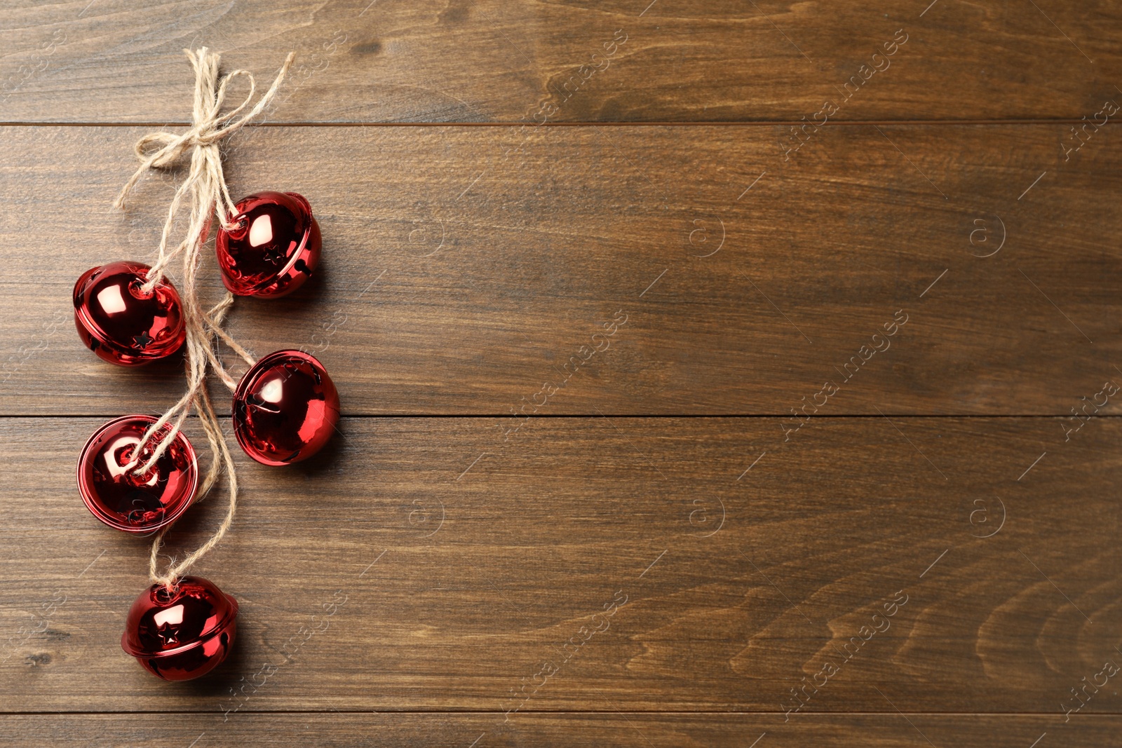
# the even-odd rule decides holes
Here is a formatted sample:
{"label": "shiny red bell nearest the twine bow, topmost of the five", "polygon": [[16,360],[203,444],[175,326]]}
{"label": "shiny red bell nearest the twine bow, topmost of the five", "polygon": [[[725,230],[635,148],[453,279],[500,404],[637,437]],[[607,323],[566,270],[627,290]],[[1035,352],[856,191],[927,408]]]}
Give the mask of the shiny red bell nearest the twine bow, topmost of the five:
{"label": "shiny red bell nearest the twine bow, topmost of the five", "polygon": [[222,283],[239,296],[284,296],[300,288],[320,261],[320,224],[294,192],[259,192],[238,201],[231,231],[214,241]]}

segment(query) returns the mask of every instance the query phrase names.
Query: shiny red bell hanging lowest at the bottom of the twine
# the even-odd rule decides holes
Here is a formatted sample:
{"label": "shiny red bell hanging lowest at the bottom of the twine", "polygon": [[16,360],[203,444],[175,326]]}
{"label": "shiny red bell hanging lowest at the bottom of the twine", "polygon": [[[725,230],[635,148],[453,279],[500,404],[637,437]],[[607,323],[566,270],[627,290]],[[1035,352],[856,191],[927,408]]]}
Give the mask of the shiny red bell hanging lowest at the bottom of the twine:
{"label": "shiny red bell hanging lowest at the bottom of the twine", "polygon": [[238,634],[238,601],[201,576],[168,591],[153,584],[129,608],[121,648],[165,681],[190,681],[218,667]]}

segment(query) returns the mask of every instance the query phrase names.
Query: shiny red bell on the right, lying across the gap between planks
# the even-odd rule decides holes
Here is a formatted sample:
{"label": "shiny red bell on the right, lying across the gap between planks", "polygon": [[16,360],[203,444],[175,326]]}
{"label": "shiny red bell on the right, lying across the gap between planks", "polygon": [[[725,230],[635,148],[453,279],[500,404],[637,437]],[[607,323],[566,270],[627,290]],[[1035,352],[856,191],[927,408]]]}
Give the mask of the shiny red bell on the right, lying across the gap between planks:
{"label": "shiny red bell on the right, lying across the gap between planks", "polygon": [[302,351],[255,363],[233,393],[233,434],[246,454],[286,465],[319,452],[339,422],[339,393],[323,364]]}

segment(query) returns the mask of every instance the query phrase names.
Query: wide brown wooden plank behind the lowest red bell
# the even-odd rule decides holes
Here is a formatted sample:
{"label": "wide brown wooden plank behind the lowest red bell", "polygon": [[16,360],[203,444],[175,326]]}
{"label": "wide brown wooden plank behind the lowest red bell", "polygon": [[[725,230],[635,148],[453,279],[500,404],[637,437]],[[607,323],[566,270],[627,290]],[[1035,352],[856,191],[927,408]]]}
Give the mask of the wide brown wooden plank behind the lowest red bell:
{"label": "wide brown wooden plank behind the lowest red bell", "polygon": [[98,423],[0,419],[7,710],[1119,713],[1102,687],[1063,727],[1122,659],[1116,418],[347,418],[309,463],[239,460],[196,569],[239,644],[187,685],[120,652],[147,544],[75,493]]}

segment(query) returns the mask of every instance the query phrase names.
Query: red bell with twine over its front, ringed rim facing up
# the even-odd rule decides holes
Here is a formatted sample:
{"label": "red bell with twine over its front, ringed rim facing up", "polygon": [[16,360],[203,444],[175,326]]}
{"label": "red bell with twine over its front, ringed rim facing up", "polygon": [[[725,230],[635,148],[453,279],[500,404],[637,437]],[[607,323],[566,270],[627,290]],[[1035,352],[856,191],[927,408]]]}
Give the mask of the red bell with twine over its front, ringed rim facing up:
{"label": "red bell with twine over its front, ringed rim facing up", "polygon": [[[93,433],[77,461],[77,490],[93,516],[126,533],[151,533],[187,510],[199,486],[195,451],[183,432],[148,472],[137,475],[132,461],[153,416],[121,416]],[[155,451],[165,425],[140,450],[142,464]],[[137,465],[134,465],[137,467]]]}

